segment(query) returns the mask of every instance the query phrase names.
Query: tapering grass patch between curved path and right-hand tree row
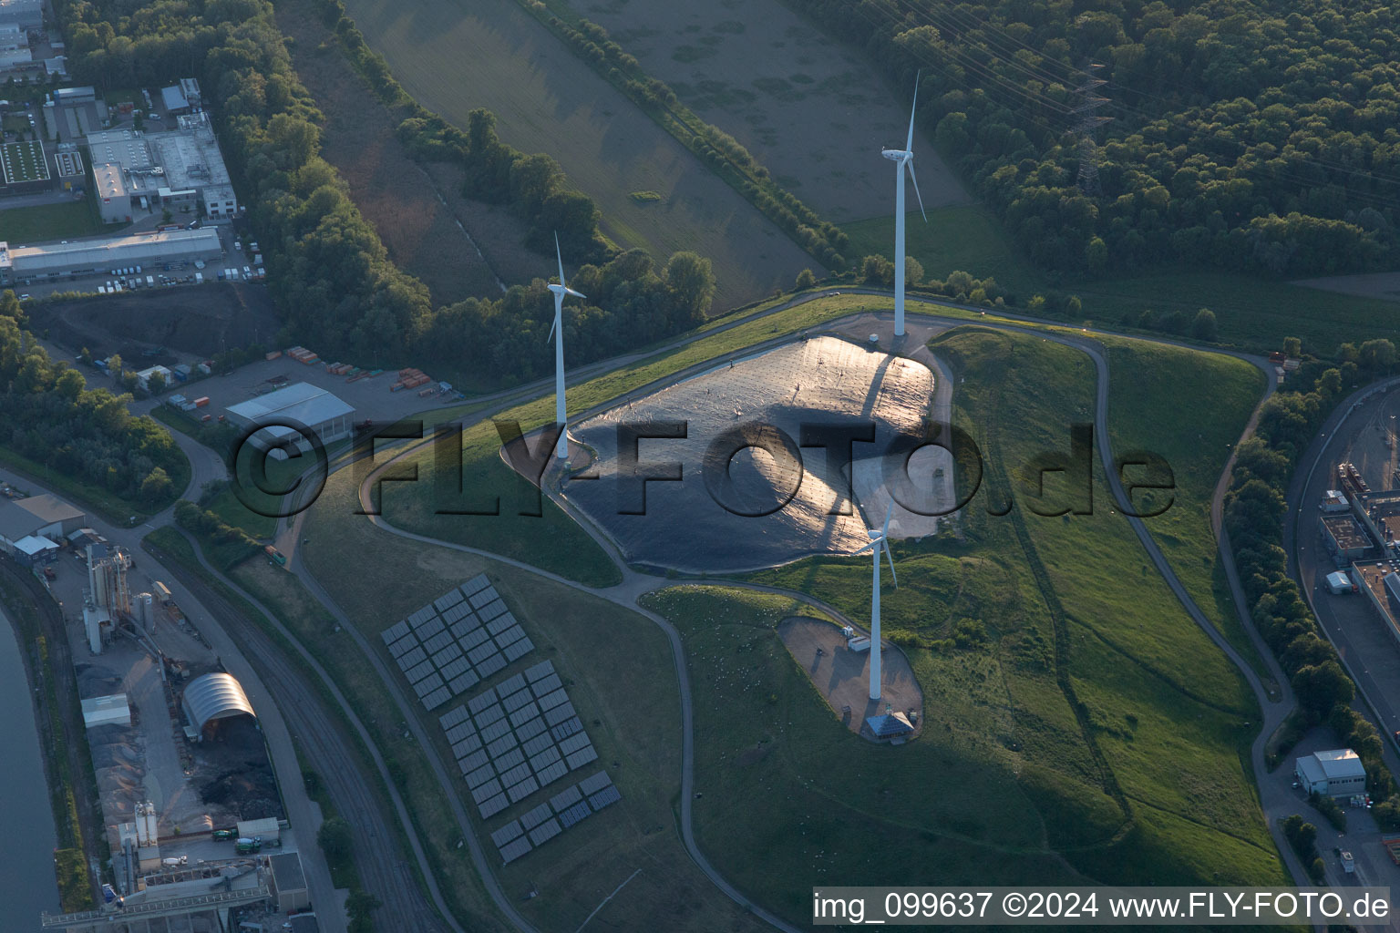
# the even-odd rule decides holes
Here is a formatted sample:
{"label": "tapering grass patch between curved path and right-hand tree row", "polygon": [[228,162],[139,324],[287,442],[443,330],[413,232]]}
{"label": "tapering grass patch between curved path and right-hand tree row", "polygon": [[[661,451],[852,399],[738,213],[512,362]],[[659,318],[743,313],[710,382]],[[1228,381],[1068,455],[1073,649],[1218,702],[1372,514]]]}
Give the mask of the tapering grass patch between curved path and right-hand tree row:
{"label": "tapering grass patch between curved path and right-hand tree row", "polygon": [[[1145,519],[1191,599],[1266,683],[1268,666],[1239,620],[1211,530],[1211,498],[1264,392],[1243,359],[1141,340],[1100,339],[1109,358],[1109,434],[1116,456],[1161,455],[1176,490],[1170,508]],[[1128,478],[1145,477],[1130,470]],[[1161,494],[1151,494],[1161,495]],[[1148,502],[1135,498],[1140,511]],[[1165,505],[1165,502],[1159,504]]]}

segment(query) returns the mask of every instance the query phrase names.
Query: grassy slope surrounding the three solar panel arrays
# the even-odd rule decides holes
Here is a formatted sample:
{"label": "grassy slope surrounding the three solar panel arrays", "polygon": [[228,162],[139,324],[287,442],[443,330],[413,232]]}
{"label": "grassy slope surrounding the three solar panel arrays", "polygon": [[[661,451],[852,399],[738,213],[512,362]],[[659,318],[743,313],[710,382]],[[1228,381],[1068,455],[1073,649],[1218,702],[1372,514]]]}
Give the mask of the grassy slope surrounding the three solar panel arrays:
{"label": "grassy slope surrounding the three solar panel arrays", "polygon": [[[598,750],[598,764],[622,790],[620,804],[498,871],[507,892],[525,891],[531,883],[538,885],[539,897],[519,904],[526,918],[545,930],[574,930],[609,891],[643,869],[594,918],[595,923],[638,932],[756,929],[686,857],[675,829],[672,809],[680,782],[679,688],[661,631],[636,613],[535,574],[375,529],[353,513],[354,497],[349,471],[330,477],[308,518],[311,543],[300,554],[370,639],[372,650],[396,670],[379,632],[484,569],[536,645],[522,663],[542,659],[554,663]],[[235,574],[244,583],[255,575],[269,578],[276,572],[249,562]],[[267,596],[277,599],[274,593]],[[290,613],[291,620],[301,615]],[[384,684],[358,646],[343,635],[332,635],[323,624],[308,634],[307,645],[361,705],[367,725],[389,725],[386,730],[371,726],[378,733],[375,741],[396,762],[395,779],[410,800],[430,857],[440,866],[444,891],[456,899],[454,912],[463,919],[470,912],[484,912],[489,902],[465,849],[456,849],[458,828],[448,802],[421,748],[403,739],[402,726],[393,726],[402,719]],[[437,718],[451,708],[427,713],[414,705],[449,769],[452,757]],[[559,793],[568,782],[552,785],[547,792]],[[497,856],[487,832],[545,799],[545,795],[526,797],[493,817],[484,827],[487,832],[482,832],[465,783],[454,785],[491,863]]]}

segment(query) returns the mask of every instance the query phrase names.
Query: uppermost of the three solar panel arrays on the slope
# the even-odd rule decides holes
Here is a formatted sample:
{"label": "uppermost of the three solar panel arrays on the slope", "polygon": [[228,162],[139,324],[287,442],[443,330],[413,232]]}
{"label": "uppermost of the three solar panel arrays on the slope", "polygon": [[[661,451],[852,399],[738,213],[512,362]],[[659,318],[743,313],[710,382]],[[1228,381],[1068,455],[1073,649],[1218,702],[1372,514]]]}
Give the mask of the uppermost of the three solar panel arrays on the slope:
{"label": "uppermost of the three solar panel arrays on the slope", "polygon": [[535,649],[486,574],[384,629],[381,638],[428,709]]}

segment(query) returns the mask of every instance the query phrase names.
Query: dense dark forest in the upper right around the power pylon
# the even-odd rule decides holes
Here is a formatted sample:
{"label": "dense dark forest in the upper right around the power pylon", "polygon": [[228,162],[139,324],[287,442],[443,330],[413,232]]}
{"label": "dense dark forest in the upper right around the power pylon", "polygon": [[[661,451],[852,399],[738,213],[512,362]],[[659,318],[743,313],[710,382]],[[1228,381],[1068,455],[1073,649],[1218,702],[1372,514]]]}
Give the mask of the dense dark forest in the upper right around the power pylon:
{"label": "dense dark forest in the upper right around the power pylon", "polygon": [[[1177,262],[1296,277],[1396,263],[1394,4],[792,6],[864,45],[902,94],[920,76],[939,150],[1050,270]],[[1085,136],[1096,183],[1081,176]]]}

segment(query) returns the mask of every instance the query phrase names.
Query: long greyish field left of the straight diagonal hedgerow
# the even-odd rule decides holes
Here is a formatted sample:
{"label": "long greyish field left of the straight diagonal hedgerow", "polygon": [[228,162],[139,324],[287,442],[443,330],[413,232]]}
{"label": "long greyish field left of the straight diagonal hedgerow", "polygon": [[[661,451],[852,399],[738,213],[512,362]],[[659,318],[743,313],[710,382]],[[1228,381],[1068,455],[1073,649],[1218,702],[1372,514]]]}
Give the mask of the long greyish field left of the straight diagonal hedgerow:
{"label": "long greyish field left of the straight diagonal hedgerow", "polygon": [[788,288],[802,269],[820,274],[776,224],[515,3],[351,0],[346,10],[419,104],[461,127],[484,106],[501,141],[552,155],[598,203],[615,243],[645,249],[658,264],[685,249],[708,257],[715,313]]}

